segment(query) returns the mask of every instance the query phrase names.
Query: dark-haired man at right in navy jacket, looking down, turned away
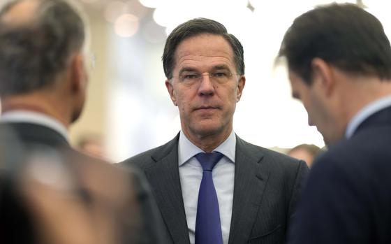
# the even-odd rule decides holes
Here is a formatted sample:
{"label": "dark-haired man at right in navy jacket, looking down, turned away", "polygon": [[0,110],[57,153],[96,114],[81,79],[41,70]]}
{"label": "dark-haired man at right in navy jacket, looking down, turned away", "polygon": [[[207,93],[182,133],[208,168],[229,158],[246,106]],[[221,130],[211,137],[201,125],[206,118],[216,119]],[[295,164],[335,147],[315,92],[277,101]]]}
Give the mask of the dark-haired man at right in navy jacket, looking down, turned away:
{"label": "dark-haired man at right in navy jacket, looking down, turned away", "polygon": [[391,47],[381,22],[353,4],[320,6],[295,19],[279,55],[327,143],[289,243],[391,243]]}

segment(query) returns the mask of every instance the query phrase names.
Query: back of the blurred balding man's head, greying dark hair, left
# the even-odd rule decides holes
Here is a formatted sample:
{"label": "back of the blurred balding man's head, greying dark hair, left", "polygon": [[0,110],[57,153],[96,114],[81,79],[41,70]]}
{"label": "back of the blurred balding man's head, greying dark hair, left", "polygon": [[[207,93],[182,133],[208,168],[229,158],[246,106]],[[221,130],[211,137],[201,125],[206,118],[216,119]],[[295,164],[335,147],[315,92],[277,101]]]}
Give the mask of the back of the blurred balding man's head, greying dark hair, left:
{"label": "back of the blurred balding man's head, greying dark hair, left", "polygon": [[10,1],[0,12],[0,96],[52,85],[84,38],[82,17],[68,1]]}

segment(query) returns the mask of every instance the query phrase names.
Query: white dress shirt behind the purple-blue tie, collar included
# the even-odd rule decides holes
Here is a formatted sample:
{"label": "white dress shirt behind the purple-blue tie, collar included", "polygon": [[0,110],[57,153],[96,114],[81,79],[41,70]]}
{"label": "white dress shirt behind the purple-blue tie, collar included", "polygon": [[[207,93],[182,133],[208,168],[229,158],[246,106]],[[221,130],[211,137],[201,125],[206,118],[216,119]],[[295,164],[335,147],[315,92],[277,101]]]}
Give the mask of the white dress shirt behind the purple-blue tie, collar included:
{"label": "white dress shirt behind the purple-blue tie, collar included", "polygon": [[[214,166],[212,177],[219,201],[221,232],[223,243],[228,243],[230,235],[231,215],[233,208],[233,187],[235,179],[235,148],[234,131],[213,152],[224,155]],[[195,241],[195,217],[197,216],[198,191],[202,180],[202,166],[195,155],[204,152],[195,146],[181,131],[178,145],[179,178],[181,180],[182,196],[189,228],[190,243]]]}

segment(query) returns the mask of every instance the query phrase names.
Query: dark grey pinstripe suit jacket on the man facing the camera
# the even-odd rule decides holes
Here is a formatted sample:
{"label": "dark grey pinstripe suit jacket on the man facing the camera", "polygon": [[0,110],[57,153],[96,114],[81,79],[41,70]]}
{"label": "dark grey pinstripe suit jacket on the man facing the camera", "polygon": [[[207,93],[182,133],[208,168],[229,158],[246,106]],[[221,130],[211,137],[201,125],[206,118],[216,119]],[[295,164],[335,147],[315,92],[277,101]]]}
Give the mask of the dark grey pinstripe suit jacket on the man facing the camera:
{"label": "dark grey pinstripe suit jacket on the man facing the camera", "polygon": [[[166,227],[167,243],[189,243],[178,167],[179,134],[122,164],[145,172]],[[237,137],[229,243],[285,243],[297,194],[308,168],[278,152]]]}

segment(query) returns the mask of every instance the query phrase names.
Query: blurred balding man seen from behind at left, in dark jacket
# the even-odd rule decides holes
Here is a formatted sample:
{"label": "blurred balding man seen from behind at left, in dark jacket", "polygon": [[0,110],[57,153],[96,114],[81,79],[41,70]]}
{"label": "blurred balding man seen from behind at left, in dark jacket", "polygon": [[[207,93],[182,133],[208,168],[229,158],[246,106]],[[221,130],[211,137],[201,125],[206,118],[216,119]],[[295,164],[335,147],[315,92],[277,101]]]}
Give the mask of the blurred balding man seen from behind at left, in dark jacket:
{"label": "blurred balding man seen from behind at left, in dark jacket", "polygon": [[86,38],[69,1],[0,10],[0,243],[160,243],[145,179],[68,143],[86,95]]}

